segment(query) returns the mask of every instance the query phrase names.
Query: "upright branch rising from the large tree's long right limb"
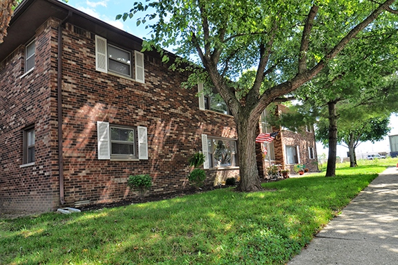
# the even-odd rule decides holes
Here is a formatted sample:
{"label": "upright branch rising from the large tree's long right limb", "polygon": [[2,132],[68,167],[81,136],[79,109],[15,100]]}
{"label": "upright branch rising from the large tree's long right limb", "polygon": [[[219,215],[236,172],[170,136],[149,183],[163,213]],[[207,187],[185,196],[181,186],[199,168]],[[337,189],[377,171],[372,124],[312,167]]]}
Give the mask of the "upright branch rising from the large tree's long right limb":
{"label": "upright branch rising from the large tree's long right limb", "polygon": [[310,42],[310,33],[312,29],[312,24],[314,23],[314,18],[318,12],[319,6],[312,6],[310,13],[305,21],[305,26],[303,29],[303,36],[301,38],[301,46],[299,53],[299,73],[304,73],[307,70],[307,51],[308,44]]}

